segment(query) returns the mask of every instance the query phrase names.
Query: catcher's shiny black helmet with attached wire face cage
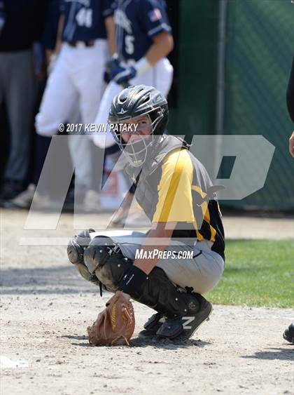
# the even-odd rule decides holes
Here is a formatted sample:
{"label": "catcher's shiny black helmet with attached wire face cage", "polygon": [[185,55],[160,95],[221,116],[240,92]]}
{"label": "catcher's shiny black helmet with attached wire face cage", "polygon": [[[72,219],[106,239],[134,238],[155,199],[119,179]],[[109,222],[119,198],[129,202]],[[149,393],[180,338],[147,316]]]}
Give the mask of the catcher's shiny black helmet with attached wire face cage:
{"label": "catcher's shiny black helmet with attached wire face cage", "polygon": [[141,116],[148,116],[151,121],[152,130],[148,136],[141,135],[133,142],[125,142],[123,133],[111,128],[113,138],[132,166],[141,166],[146,161],[147,153],[158,145],[160,138],[154,136],[165,133],[169,118],[167,99],[153,86],[145,85],[129,86],[113,98],[109,123],[135,122]]}

